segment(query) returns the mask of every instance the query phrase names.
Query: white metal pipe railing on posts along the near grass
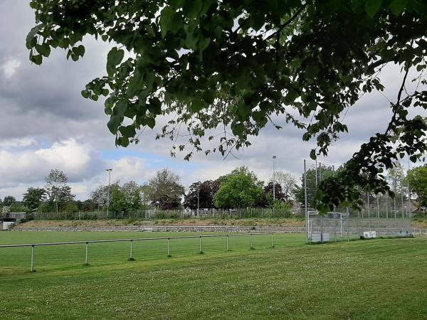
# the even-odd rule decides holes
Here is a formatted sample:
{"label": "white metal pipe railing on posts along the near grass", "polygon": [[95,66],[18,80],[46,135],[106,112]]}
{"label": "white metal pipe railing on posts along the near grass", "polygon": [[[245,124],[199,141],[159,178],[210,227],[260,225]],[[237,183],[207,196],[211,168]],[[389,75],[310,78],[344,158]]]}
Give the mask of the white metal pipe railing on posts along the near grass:
{"label": "white metal pipe railing on posts along the near grass", "polygon": [[172,236],[172,237],[157,237],[157,238],[134,238],[134,239],[108,239],[108,240],[88,240],[88,241],[70,241],[70,242],[46,242],[46,243],[31,243],[31,244],[17,244],[17,245],[0,245],[1,248],[13,248],[13,247],[31,247],[31,267],[30,271],[35,272],[35,248],[36,247],[49,247],[58,245],[85,245],[85,265],[89,265],[89,244],[90,243],[106,243],[106,242],[129,242],[130,243],[130,257],[128,260],[135,260],[133,255],[134,242],[142,241],[154,241],[154,240],[167,240],[167,256],[171,257],[171,240],[178,239],[199,239],[199,253],[203,252],[202,239],[204,238],[226,238],[226,251],[230,251],[229,238],[231,237],[242,237],[246,236],[250,238],[251,249],[253,249],[253,236],[255,235],[271,235],[271,247],[274,247],[274,235],[273,233],[237,233],[230,235],[186,235],[186,236]]}

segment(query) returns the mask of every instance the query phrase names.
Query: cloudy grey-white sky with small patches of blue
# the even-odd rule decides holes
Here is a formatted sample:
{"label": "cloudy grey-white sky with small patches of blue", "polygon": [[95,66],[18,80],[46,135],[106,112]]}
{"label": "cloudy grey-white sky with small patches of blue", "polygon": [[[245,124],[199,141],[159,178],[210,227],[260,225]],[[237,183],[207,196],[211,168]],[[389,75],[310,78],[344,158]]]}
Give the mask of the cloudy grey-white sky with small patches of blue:
{"label": "cloudy grey-white sky with small patches of blue", "polygon": [[[303,159],[308,158],[315,142],[302,142],[303,132],[291,124],[280,131],[265,127],[251,139],[252,146],[226,159],[203,152],[191,161],[184,161],[185,154],[172,158],[170,140],[154,139],[158,128],[146,129],[136,146],[116,147],[107,129],[103,102],[80,95],[86,83],[106,74],[110,47],[85,38],[85,56],[78,62],[66,60],[65,51],[58,48],[42,65],[30,63],[25,38],[34,26],[34,14],[28,4],[26,0],[0,2],[0,198],[11,195],[20,200],[28,187],[43,187],[51,169],[68,175],[78,200],[107,184],[108,168],[112,169],[112,181],[144,183],[167,167],[187,187],[244,165],[267,181],[275,155],[275,169],[299,179]],[[372,134],[384,132],[391,117],[387,98],[395,100],[400,86],[399,68],[385,68],[381,79],[386,84],[386,97],[372,92],[351,107],[344,117],[349,134],[342,134],[329,156],[319,161],[342,164]]]}

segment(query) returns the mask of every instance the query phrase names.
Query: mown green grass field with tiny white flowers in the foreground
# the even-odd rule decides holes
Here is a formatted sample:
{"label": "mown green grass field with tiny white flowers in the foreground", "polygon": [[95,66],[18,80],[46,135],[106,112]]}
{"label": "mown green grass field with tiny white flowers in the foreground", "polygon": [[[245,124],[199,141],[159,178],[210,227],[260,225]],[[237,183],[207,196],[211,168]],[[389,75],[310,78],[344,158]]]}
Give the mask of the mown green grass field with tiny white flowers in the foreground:
{"label": "mown green grass field with tiny white flowers in the foreground", "polygon": [[[174,233],[0,233],[0,244]],[[189,235],[187,233],[179,235]],[[304,235],[0,249],[0,319],[427,319],[427,239]]]}

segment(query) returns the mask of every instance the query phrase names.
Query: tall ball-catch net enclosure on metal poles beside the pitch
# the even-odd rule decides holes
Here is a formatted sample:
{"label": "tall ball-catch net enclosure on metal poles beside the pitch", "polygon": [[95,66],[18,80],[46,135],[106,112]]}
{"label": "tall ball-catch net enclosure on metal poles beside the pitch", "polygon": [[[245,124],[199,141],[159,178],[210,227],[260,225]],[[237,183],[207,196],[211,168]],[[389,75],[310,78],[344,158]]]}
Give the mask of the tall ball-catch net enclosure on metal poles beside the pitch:
{"label": "tall ball-catch net enclosure on metal poles beside the pitch", "polygon": [[364,205],[361,211],[351,208],[334,208],[325,215],[319,215],[312,208],[318,183],[333,176],[337,166],[317,161],[304,161],[303,187],[305,188],[306,240],[328,242],[351,240],[365,237],[408,236],[411,230],[411,201],[408,186],[399,178],[389,183],[395,197],[374,195],[362,191]]}

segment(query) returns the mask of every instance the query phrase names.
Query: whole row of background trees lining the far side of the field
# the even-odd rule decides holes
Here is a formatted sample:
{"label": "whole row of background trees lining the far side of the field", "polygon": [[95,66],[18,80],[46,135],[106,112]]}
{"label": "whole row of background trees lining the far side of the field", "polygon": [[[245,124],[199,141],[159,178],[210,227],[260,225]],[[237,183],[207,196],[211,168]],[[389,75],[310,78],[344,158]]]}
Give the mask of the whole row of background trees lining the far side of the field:
{"label": "whole row of background trees lining the far side of the field", "polygon": [[[340,168],[337,169],[339,170]],[[315,181],[333,174],[332,167],[328,166],[322,167],[321,171],[308,170],[306,180],[309,193],[315,193]],[[264,185],[263,181],[260,181],[246,166],[236,168],[230,174],[220,176],[216,180],[192,183],[186,193],[179,176],[169,169],[162,169],[142,185],[135,181],[126,183],[115,181],[110,187],[97,187],[87,200],[75,201],[75,196],[68,186],[67,175],[63,171],[53,169],[46,176],[44,188],[28,188],[26,193],[23,193],[23,201],[6,196],[0,201],[0,206],[2,213],[95,211],[107,210],[107,207],[116,212],[149,208],[170,210],[182,207],[191,209],[289,207],[293,202],[305,203],[304,178],[302,174],[300,186],[297,186],[294,176],[282,171],[275,172],[275,201],[273,201],[273,178]],[[395,190],[397,195],[404,195],[406,198],[409,183],[411,194],[418,198],[418,207],[427,206],[426,165],[409,170],[407,175],[403,167],[398,165],[388,172],[387,178],[391,189]],[[365,192],[362,194],[366,197]]]}

